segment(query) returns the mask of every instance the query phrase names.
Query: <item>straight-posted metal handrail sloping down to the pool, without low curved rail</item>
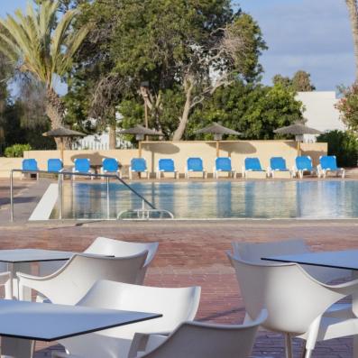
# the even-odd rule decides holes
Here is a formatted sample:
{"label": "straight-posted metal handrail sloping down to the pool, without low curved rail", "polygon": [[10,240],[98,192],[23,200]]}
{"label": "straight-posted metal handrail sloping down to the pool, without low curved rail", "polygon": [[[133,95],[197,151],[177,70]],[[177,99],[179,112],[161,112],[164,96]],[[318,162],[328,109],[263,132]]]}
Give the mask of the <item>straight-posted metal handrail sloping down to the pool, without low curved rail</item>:
{"label": "straight-posted metal handrail sloping down to the pool, without low curved rail", "polygon": [[64,175],[80,176],[80,177],[94,177],[94,178],[106,178],[107,184],[107,218],[109,218],[109,179],[117,179],[119,180],[125,188],[128,188],[133,192],[134,195],[142,199],[142,207],[145,207],[145,204],[148,207],[151,207],[153,210],[157,210],[150,201],[148,201],[145,197],[143,197],[138,191],[133,189],[128,183],[124,181],[124,179],[120,178],[118,174],[95,174],[95,173],[81,173],[81,172],[73,172],[73,171],[47,171],[47,170],[21,170],[21,169],[13,169],[10,174],[10,220],[14,221],[14,172],[19,172],[23,174],[57,174],[59,175],[59,197],[60,197],[60,219],[62,219],[62,181]]}

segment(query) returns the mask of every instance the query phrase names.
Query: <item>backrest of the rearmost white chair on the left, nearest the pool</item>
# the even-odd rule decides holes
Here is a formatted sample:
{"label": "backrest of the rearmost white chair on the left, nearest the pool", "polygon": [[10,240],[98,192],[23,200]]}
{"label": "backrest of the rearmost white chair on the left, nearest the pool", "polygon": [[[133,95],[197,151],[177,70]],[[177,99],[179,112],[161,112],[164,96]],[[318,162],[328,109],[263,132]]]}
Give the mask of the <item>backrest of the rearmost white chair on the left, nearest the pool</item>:
{"label": "backrest of the rearmost white chair on the left, nearest the pool", "polygon": [[149,264],[158,251],[159,243],[130,243],[126,241],[97,237],[91,243],[85,253],[95,253],[100,255],[114,255],[115,257],[133,256],[143,251],[148,251],[147,259],[138,276],[137,284],[142,284]]}

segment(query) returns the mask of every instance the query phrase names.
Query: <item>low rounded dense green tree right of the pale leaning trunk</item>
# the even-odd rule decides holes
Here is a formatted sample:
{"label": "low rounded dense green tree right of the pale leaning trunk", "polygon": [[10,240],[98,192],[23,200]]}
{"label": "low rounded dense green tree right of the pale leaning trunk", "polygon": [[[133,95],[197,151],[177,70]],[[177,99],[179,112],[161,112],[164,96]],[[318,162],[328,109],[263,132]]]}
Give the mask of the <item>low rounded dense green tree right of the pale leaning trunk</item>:
{"label": "low rounded dense green tree right of the pale leaning trunk", "polygon": [[197,138],[197,129],[215,121],[243,133],[244,139],[273,139],[273,130],[293,123],[302,116],[301,110],[302,103],[287,87],[264,87],[237,80],[218,89],[201,110],[196,110],[189,138]]}

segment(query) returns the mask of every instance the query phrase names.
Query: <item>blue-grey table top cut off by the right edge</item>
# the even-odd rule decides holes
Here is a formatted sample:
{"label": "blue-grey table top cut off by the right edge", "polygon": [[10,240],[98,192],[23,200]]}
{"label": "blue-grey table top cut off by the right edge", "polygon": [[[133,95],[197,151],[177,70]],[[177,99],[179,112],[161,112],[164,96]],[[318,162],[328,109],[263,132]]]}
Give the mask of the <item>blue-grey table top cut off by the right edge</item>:
{"label": "blue-grey table top cut off by the right edge", "polygon": [[273,262],[296,262],[305,265],[358,271],[358,250],[307,252],[292,255],[262,257]]}

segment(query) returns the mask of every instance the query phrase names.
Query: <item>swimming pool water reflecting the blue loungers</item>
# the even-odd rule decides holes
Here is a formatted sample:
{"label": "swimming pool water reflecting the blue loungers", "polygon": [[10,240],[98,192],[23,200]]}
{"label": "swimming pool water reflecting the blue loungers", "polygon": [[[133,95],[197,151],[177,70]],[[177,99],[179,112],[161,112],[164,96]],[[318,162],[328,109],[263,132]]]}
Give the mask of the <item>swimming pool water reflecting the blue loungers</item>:
{"label": "swimming pool water reflecting the blue loungers", "polygon": [[[355,180],[134,182],[132,187],[181,219],[358,217]],[[110,183],[109,190],[111,218],[142,207],[123,185]],[[106,218],[106,207],[105,183],[65,185],[63,218]],[[58,217],[57,204],[50,218]]]}

